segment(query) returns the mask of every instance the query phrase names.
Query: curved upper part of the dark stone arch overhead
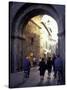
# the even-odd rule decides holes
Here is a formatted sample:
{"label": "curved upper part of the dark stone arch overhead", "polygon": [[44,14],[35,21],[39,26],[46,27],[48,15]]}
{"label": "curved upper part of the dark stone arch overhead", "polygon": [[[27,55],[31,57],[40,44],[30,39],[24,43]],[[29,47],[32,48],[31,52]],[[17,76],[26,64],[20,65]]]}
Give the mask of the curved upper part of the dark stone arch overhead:
{"label": "curved upper part of the dark stone arch overhead", "polygon": [[52,5],[32,4],[31,6],[26,8],[25,11],[21,12],[20,16],[19,16],[19,11],[17,12],[12,22],[12,30],[15,30],[16,32],[16,30],[20,30],[21,28],[24,28],[24,26],[30,20],[30,18],[37,15],[43,15],[43,14],[52,16],[59,24],[60,16]]}

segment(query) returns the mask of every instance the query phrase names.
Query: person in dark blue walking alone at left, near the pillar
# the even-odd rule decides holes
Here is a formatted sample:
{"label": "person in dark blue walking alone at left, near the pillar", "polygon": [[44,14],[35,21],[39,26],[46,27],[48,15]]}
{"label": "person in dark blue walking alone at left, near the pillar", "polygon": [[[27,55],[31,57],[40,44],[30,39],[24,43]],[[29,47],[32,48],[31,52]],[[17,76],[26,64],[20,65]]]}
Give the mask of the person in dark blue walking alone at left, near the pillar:
{"label": "person in dark blue walking alone at left, near the pillar", "polygon": [[29,74],[30,74],[30,61],[29,61],[29,57],[26,56],[25,59],[23,60],[23,71],[24,71],[24,77],[25,78],[29,78]]}

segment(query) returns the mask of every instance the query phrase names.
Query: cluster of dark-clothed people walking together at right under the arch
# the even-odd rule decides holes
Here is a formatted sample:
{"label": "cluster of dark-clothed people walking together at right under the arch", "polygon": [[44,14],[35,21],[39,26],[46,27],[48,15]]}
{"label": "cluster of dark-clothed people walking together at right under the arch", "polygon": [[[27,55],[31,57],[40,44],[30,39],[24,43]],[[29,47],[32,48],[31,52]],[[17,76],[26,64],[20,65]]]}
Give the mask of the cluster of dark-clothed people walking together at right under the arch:
{"label": "cluster of dark-clothed people walking together at right under the arch", "polygon": [[58,78],[58,81],[63,82],[64,67],[63,60],[60,55],[53,55],[52,59],[51,57],[48,57],[47,60],[44,60],[44,58],[42,58],[39,63],[41,80],[44,80],[44,74],[46,70],[48,70],[48,78],[50,78],[52,67],[54,71],[54,78]]}

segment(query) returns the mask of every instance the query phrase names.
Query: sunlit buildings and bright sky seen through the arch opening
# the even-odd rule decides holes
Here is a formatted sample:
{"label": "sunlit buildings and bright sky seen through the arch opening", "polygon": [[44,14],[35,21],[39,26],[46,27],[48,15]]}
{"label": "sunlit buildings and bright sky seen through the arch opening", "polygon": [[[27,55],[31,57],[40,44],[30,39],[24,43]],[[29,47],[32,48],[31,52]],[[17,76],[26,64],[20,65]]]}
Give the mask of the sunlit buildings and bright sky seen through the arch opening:
{"label": "sunlit buildings and bright sky seen through the arch opening", "polygon": [[57,54],[57,34],[58,25],[54,18],[46,14],[32,17],[24,27],[22,34],[24,38],[23,58],[27,54],[29,57],[32,56],[32,59]]}

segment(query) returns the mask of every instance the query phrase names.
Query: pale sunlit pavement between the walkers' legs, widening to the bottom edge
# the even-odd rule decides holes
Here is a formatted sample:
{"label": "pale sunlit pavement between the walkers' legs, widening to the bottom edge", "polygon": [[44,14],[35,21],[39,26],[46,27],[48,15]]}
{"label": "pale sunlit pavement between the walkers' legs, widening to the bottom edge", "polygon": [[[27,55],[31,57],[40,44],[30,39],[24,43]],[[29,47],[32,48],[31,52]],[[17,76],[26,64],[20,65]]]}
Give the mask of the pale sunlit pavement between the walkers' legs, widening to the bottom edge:
{"label": "pale sunlit pavement between the walkers' legs, widening to the bottom edge", "polygon": [[54,79],[53,71],[51,72],[49,78],[48,71],[46,70],[44,80],[41,82],[38,67],[33,67],[31,68],[30,77],[24,80],[24,82],[18,85],[18,87],[51,86],[57,84],[60,83],[57,83],[57,79]]}

